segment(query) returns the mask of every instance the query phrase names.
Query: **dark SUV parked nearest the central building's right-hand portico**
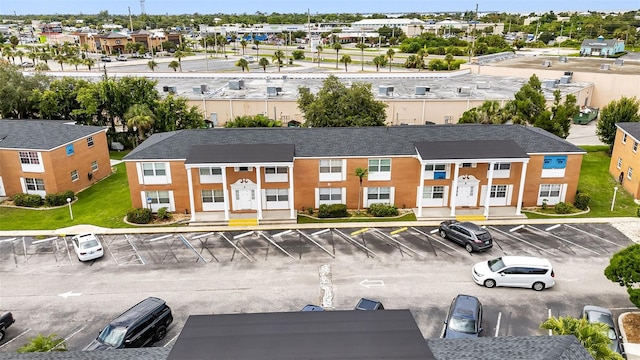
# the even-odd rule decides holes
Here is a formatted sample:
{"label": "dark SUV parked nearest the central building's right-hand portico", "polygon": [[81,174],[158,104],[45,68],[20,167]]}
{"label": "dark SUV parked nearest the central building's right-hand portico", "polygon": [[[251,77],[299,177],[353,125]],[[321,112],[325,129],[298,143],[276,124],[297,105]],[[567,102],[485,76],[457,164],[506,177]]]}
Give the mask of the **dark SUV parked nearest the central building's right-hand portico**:
{"label": "dark SUV parked nearest the central building's right-hand portico", "polygon": [[472,222],[443,221],[438,232],[443,239],[450,239],[464,246],[468,252],[484,251],[493,247],[491,234]]}

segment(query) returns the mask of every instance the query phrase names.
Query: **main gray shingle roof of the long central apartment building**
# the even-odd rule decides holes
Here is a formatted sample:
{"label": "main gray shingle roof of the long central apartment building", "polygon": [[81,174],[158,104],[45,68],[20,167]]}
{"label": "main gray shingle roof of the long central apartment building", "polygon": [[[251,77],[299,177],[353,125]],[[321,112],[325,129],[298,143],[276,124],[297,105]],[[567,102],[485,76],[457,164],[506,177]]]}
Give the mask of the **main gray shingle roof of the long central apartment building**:
{"label": "main gray shingle roof of the long central apartment building", "polygon": [[215,128],[155,134],[125,160],[186,159],[193,145],[293,144],[296,157],[407,156],[424,141],[513,140],[528,154],[584,153],[544,130],[521,125],[361,128]]}

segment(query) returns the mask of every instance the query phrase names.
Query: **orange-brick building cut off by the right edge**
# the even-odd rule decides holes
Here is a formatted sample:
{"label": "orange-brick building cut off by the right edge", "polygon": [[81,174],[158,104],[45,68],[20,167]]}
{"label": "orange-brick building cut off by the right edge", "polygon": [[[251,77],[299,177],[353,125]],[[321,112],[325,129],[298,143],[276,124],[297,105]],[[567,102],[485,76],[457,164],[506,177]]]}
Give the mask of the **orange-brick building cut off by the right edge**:
{"label": "orange-brick building cut off by the right edge", "polygon": [[[616,124],[609,173],[634,199],[640,199],[640,123]],[[635,173],[634,173],[635,168]]]}

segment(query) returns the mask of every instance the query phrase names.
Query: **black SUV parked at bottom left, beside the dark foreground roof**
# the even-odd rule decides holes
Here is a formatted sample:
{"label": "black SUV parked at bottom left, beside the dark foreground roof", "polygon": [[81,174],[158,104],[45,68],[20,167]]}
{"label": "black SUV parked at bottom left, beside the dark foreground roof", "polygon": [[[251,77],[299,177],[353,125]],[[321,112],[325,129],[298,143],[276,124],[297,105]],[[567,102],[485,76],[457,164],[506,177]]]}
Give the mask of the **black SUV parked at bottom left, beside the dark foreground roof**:
{"label": "black SUV parked at bottom left, beside the dark foreground roof", "polygon": [[164,339],[173,322],[164,300],[149,297],[115,318],[84,350],[110,350],[149,346]]}

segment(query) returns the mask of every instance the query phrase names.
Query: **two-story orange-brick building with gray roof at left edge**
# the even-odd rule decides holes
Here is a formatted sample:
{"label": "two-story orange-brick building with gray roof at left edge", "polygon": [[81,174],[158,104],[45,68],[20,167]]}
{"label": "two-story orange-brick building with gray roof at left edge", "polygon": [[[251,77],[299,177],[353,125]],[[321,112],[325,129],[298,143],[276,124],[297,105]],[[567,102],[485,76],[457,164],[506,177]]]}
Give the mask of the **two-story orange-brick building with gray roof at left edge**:
{"label": "two-story orange-brick building with gray roof at left edge", "polygon": [[107,129],[0,120],[0,197],[78,192],[111,173]]}

